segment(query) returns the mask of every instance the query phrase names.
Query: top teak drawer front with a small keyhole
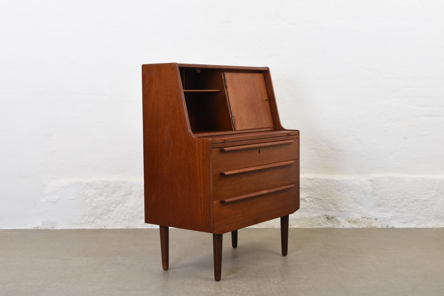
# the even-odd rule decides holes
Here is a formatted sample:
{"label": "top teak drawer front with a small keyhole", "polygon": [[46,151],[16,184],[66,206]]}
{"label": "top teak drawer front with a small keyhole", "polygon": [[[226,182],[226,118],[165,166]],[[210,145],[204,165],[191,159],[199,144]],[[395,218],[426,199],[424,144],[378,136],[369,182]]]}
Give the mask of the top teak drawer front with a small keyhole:
{"label": "top teak drawer front with a small keyhole", "polygon": [[299,139],[212,149],[213,172],[299,159]]}

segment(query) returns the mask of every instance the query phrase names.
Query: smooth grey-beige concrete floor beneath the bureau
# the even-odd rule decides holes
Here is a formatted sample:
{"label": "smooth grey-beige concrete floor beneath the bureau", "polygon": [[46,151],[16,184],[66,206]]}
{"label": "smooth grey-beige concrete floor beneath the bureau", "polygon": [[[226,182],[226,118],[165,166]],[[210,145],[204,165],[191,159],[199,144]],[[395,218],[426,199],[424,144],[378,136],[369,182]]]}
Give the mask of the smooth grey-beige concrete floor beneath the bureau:
{"label": "smooth grey-beige concrete floor beneath the bureau", "polygon": [[0,295],[444,295],[444,228],[293,228],[224,235],[170,229],[0,230]]}

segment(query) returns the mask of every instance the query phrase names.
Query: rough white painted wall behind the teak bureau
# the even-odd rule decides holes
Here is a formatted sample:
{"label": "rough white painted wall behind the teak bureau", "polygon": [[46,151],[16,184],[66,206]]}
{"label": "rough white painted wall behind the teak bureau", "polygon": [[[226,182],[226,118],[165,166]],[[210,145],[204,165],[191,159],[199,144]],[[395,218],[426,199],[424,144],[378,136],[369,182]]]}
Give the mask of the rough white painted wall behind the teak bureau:
{"label": "rough white painted wall behind the teak bureau", "polygon": [[442,1],[0,3],[0,228],[147,227],[140,66],[163,62],[270,67],[292,226],[444,226]]}

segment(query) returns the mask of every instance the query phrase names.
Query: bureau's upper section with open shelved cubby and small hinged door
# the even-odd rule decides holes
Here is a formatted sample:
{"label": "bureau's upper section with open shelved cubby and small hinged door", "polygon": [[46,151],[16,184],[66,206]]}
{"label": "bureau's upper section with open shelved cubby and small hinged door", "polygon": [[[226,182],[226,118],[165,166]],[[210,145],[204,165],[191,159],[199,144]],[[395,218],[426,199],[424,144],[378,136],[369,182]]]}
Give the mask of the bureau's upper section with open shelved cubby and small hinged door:
{"label": "bureau's upper section with open shelved cubby and small hinged door", "polygon": [[265,69],[181,64],[179,73],[195,136],[276,129],[274,92]]}

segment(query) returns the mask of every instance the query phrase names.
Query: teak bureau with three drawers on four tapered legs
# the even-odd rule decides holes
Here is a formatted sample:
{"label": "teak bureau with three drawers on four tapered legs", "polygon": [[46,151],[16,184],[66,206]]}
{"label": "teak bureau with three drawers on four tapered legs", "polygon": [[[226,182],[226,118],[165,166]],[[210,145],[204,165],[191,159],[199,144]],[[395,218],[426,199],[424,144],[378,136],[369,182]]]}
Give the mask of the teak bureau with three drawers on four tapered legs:
{"label": "teak bureau with three drawers on four tapered legs", "polygon": [[145,222],[213,233],[214,279],[222,234],[299,208],[299,131],[281,126],[267,67],[142,65]]}

